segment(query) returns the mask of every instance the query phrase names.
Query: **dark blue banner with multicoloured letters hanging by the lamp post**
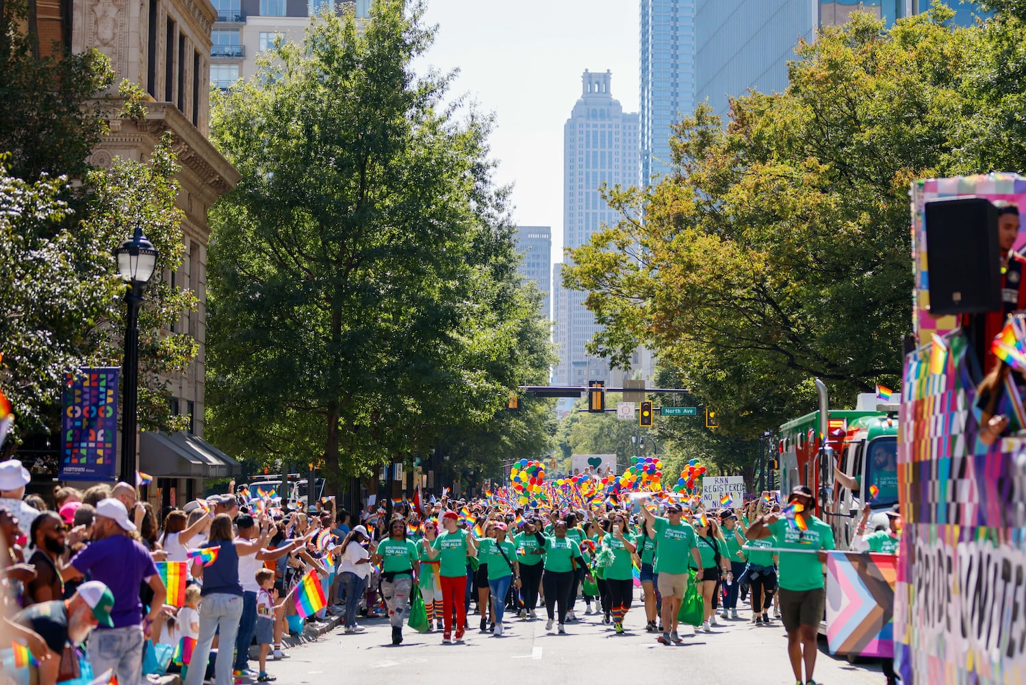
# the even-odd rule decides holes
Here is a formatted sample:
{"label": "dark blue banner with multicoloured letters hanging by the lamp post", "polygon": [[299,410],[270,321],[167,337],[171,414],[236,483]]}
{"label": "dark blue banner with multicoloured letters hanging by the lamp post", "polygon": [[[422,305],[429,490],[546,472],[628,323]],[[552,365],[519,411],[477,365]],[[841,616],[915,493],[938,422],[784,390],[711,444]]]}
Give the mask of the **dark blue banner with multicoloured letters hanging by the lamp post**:
{"label": "dark blue banner with multicoloured letters hanging by the lamp post", "polygon": [[121,369],[79,369],[65,378],[61,420],[62,481],[114,481]]}

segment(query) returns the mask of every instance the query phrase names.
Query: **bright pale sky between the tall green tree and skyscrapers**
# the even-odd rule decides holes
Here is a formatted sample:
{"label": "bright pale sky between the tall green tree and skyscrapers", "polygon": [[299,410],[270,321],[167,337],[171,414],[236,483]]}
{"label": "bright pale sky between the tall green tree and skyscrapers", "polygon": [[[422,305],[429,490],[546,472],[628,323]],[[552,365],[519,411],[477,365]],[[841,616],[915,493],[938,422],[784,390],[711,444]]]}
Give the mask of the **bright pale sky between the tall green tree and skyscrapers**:
{"label": "bright pale sky between the tall green tree and skyscrapers", "polygon": [[451,94],[496,116],[496,180],[513,185],[513,218],[552,227],[562,259],[563,124],[585,69],[613,71],[613,97],[638,111],[637,0],[428,0],[435,44],[417,64],[459,69]]}

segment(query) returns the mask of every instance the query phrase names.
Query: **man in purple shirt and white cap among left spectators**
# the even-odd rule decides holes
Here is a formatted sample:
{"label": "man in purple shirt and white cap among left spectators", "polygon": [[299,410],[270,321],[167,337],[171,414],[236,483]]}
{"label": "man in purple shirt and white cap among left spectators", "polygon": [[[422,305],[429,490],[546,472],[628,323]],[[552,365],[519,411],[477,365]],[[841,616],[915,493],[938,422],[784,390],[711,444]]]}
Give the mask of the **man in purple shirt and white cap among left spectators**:
{"label": "man in purple shirt and white cap among left spectators", "polygon": [[128,536],[135,525],[128,521],[125,505],[113,498],[101,500],[95,516],[93,542],[75,555],[62,573],[65,579],[81,578],[88,573],[114,595],[111,610],[114,627],[101,625],[93,632],[89,639],[89,661],[93,673],[114,669],[119,683],[132,685],[143,678],[146,639],[139,588],[143,582],[153,588],[147,631],[160,613],[167,591],[150,553]]}

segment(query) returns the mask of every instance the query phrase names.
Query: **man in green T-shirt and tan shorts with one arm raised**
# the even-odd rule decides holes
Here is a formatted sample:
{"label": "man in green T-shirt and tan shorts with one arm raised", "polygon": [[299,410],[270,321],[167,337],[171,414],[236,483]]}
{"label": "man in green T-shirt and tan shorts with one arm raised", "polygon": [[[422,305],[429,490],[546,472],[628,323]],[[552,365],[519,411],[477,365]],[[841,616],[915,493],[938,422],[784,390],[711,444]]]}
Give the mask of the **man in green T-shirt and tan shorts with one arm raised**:
{"label": "man in green T-shirt and tan shorts with one arm raised", "polygon": [[659,574],[658,587],[663,596],[663,635],[659,642],[670,645],[682,642],[677,635],[677,614],[687,589],[688,556],[701,578],[705,572],[702,556],[696,546],[695,529],[682,521],[683,507],[676,502],[666,506],[666,518],[657,517],[647,507],[641,507],[648,527],[656,531],[659,554],[656,556],[655,571]]}

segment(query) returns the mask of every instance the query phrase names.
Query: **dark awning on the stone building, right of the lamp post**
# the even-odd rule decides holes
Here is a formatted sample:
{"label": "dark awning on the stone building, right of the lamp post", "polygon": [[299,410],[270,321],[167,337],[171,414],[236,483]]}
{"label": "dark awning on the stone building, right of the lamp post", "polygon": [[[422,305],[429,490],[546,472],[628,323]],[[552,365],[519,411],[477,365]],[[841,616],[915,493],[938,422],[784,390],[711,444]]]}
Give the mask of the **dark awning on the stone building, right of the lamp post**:
{"label": "dark awning on the stone building, right of the lamp post", "polygon": [[242,465],[202,437],[158,430],[140,434],[139,468],[154,478],[231,478]]}

